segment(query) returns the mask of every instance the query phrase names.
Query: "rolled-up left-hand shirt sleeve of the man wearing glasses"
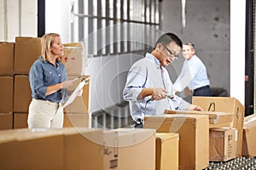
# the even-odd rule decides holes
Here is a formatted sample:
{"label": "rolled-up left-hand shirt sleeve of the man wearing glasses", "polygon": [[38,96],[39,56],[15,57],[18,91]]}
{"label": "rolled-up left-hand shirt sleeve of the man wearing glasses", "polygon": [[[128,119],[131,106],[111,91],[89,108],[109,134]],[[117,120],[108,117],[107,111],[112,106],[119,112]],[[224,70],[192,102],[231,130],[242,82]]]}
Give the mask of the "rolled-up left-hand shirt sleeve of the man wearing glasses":
{"label": "rolled-up left-hand shirt sleeve of the man wearing glasses", "polygon": [[145,88],[147,79],[147,71],[141,66],[131,67],[128,72],[123,97],[126,101],[140,101],[137,99],[138,95]]}

